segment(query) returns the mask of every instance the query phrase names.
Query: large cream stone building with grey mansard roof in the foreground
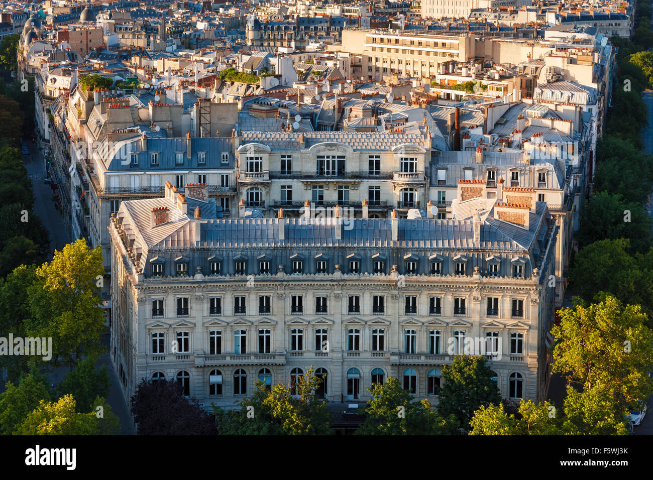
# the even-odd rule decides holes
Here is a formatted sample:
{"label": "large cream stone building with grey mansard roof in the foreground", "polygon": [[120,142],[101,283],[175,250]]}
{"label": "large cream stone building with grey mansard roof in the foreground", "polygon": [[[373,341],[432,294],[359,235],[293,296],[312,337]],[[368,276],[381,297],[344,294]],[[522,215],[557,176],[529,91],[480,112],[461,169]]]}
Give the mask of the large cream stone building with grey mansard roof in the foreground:
{"label": "large cream stone building with grey mansard roof in the foreground", "polygon": [[545,395],[545,203],[471,199],[451,220],[349,223],[216,219],[206,200],[204,185],[184,196],[168,183],[112,215],[110,351],[125,398],[142,379],[176,379],[206,408],[233,408],[257,379],[293,387],[312,366],[328,402],[365,402],[389,376],[437,402],[454,353],[486,355],[505,398]]}

